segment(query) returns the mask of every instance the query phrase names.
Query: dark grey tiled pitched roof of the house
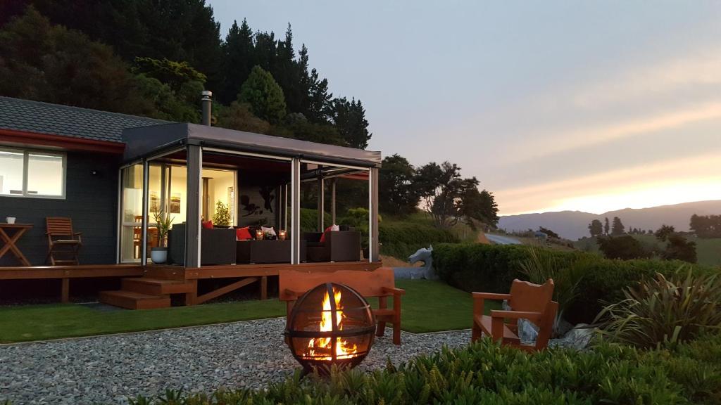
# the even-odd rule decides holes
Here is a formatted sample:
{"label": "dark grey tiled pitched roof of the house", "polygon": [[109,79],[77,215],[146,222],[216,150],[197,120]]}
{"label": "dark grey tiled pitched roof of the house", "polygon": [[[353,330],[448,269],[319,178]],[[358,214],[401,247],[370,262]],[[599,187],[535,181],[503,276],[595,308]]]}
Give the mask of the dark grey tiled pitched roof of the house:
{"label": "dark grey tiled pitched roof of the house", "polygon": [[169,121],[117,112],[0,97],[0,130],[121,143],[125,128],[167,123]]}

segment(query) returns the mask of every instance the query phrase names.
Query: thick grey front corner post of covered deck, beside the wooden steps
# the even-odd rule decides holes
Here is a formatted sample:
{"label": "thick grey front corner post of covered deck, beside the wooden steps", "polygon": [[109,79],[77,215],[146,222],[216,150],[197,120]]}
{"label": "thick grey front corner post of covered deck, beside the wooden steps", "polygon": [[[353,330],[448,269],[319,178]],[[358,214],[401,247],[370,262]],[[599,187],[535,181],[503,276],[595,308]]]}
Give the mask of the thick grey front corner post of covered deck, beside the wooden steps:
{"label": "thick grey front corner post of covered deck, beside the wooden steps", "polygon": [[187,208],[185,221],[185,267],[200,267],[200,184],[203,175],[203,148],[187,146]]}

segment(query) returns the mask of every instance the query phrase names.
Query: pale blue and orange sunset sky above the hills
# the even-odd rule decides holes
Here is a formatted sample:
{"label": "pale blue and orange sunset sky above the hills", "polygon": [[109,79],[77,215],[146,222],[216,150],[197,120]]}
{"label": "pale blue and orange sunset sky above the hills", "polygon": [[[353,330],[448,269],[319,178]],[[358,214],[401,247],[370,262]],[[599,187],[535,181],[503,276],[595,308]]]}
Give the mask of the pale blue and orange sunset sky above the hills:
{"label": "pale blue and orange sunset sky above the hills", "polygon": [[500,213],[721,200],[719,1],[211,0],[282,37],[371,149],[449,160]]}

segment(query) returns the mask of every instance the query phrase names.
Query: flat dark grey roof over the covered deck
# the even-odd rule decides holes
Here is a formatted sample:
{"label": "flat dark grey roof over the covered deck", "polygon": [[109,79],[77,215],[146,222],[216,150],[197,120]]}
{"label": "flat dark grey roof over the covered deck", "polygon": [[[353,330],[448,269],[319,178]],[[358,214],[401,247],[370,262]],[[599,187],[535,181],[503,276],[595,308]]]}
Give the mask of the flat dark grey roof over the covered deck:
{"label": "flat dark grey roof over the covered deck", "polygon": [[301,141],[293,138],[261,135],[189,123],[169,123],[123,130],[126,162],[153,156],[178,146],[200,145],[208,148],[262,153],[278,157],[299,157],[329,164],[380,167],[381,152]]}

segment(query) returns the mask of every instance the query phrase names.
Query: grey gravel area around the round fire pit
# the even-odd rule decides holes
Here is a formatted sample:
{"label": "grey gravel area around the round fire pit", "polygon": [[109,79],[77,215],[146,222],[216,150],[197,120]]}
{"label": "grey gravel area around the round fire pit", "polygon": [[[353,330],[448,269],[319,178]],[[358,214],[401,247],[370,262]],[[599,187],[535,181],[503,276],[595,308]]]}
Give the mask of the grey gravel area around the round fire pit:
{"label": "grey gravel area around the round fire pit", "polygon": [[[0,346],[0,403],[125,404],[127,396],[154,396],[166,388],[260,388],[298,367],[281,336],[285,323],[266,319]],[[397,347],[391,332],[376,339],[361,368],[470,341],[470,331],[403,333]]]}

